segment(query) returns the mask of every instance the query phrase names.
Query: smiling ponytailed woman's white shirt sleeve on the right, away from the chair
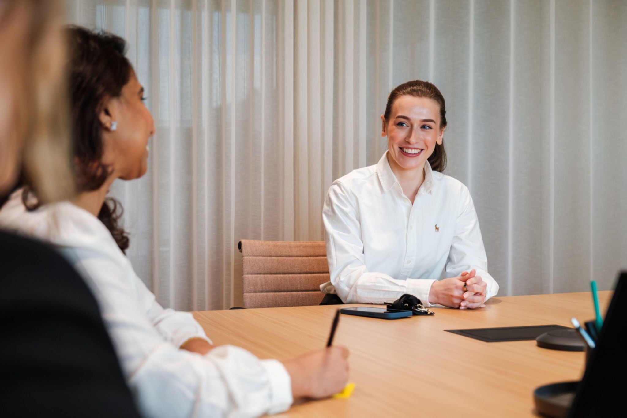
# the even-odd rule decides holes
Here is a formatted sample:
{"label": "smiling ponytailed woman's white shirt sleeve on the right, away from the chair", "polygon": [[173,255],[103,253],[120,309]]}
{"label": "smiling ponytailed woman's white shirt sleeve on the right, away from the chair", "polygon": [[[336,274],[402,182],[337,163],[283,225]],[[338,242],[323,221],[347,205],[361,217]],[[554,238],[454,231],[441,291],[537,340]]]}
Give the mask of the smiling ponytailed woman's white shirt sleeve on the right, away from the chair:
{"label": "smiling ponytailed woman's white shirt sleeve on the right, away from the chair", "polygon": [[476,275],[487,283],[485,300],[496,295],[498,283],[488,273],[488,258],[483,247],[475,205],[468,188],[463,187],[459,216],[455,225],[455,236],[453,236],[451,251],[446,260],[446,276],[458,277],[463,271],[472,269],[475,269]]}

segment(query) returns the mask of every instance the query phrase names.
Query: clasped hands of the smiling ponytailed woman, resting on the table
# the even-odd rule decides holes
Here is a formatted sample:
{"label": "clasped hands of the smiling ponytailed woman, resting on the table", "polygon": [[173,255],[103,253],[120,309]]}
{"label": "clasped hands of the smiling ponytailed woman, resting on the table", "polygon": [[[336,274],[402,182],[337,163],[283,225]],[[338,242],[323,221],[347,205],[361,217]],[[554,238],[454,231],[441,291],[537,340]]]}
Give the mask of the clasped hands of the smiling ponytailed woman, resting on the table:
{"label": "clasped hands of the smiling ponytailed woman, resting on the table", "polygon": [[459,277],[436,280],[429,291],[429,303],[460,309],[484,308],[488,285],[476,274],[472,269]]}

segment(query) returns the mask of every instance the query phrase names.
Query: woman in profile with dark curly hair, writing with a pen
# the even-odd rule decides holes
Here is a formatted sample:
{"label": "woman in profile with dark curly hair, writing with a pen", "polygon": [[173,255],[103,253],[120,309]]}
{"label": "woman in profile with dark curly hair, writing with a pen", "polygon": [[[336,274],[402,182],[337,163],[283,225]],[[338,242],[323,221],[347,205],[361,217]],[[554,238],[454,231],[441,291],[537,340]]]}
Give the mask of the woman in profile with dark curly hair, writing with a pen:
{"label": "woman in profile with dark curly hair, writing with a pen", "polygon": [[144,88],[124,56],[124,39],[76,27],[66,38],[79,193],[40,206],[36,190],[26,185],[0,210],[0,226],[53,244],[82,273],[140,412],[249,417],[286,410],[298,397],[342,390],[344,347],[283,363],[260,360],[242,348],[213,347],[191,313],[155,301],[124,254],[129,238],[117,224],[117,204],[105,199],[114,180],[137,179],[147,170],[155,128],[142,102]]}

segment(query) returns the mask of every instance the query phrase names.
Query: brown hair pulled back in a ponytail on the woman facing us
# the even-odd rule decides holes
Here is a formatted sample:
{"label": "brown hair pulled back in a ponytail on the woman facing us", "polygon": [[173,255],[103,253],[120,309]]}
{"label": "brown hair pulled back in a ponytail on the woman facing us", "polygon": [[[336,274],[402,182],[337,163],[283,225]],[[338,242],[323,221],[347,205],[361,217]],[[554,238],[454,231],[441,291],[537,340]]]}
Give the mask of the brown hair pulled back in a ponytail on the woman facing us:
{"label": "brown hair pulled back in a ponytail on the woman facing us", "polygon": [[[438,105],[440,105],[440,127],[446,127],[446,103],[444,102],[444,96],[435,85],[428,81],[421,80],[408,81],[396,86],[396,88],[391,91],[389,97],[387,97],[386,112],[383,113],[383,118],[386,120],[386,123],[392,113],[394,100],[401,96],[426,97],[435,100]],[[438,172],[443,172],[444,169],[446,169],[446,151],[444,150],[444,143],[435,145],[433,154],[429,157],[429,165],[431,165],[431,169]]]}

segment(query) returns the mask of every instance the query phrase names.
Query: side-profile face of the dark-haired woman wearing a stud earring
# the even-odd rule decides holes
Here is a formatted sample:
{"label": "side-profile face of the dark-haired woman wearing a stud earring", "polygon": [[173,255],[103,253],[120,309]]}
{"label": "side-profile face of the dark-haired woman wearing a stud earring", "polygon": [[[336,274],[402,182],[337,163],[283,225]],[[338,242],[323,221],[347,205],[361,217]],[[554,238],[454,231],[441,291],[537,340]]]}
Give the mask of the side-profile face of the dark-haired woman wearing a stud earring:
{"label": "side-profile face of the dark-haired woman wearing a stud earring", "polygon": [[[124,180],[138,179],[148,169],[148,139],[155,133],[154,120],[144,105],[144,88],[131,71],[120,97],[112,98],[100,115],[104,125],[103,164]],[[111,130],[112,122],[117,128]]]}

